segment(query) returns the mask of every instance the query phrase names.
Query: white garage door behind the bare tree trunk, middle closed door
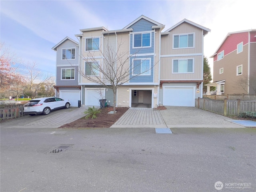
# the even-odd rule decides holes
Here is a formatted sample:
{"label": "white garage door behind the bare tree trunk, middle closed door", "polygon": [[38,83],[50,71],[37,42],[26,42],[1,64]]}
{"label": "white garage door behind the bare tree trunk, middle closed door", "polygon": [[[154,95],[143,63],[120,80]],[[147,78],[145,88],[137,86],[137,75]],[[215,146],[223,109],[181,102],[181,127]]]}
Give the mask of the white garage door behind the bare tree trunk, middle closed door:
{"label": "white garage door behind the bare tree trunk, middle closed door", "polygon": [[99,99],[105,97],[104,90],[102,89],[102,96],[99,89],[86,89],[85,90],[85,105],[100,106]]}

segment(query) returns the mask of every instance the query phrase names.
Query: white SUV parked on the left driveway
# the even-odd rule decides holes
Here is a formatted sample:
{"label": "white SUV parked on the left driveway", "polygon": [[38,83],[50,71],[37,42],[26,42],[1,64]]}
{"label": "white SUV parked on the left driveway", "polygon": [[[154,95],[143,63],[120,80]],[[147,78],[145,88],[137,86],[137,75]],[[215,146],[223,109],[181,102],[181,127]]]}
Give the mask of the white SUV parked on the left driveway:
{"label": "white SUV parked on the left driveway", "polygon": [[24,104],[24,114],[48,115],[52,110],[56,110],[60,108],[69,108],[69,107],[70,107],[69,100],[64,100],[58,97],[36,98]]}

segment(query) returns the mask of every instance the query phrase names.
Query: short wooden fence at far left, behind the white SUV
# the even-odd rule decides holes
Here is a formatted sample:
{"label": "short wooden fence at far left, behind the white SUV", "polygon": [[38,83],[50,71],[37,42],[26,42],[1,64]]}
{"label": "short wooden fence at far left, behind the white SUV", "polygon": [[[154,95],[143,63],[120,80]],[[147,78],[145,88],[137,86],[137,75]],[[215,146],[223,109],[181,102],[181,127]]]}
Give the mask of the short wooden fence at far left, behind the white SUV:
{"label": "short wooden fence at far left, behind the white SUV", "polygon": [[1,105],[0,117],[1,120],[18,118],[24,116],[23,105]]}

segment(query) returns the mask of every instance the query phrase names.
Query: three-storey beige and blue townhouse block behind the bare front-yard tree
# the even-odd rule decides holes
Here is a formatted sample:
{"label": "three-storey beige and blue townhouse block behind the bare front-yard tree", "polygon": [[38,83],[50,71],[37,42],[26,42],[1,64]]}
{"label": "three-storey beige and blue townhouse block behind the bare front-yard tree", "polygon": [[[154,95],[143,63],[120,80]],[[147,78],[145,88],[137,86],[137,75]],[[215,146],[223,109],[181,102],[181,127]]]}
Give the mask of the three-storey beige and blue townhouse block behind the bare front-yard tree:
{"label": "three-storey beige and blue townhouse block behind the bare front-yard tree", "polygon": [[[109,31],[104,27],[80,30],[81,33],[75,35],[80,39],[79,70],[84,75],[102,76],[88,69],[95,63],[104,66],[102,53],[111,46],[126,53],[131,71],[129,81],[117,90],[117,106],[195,106],[195,98],[202,97],[203,40],[210,29],[186,19],[162,32],[164,27],[142,15],[120,30]],[[91,54],[96,61],[88,60]],[[57,67],[57,71],[60,70]],[[112,90],[80,74],[78,85],[83,105],[99,106],[102,98],[113,105]]]}

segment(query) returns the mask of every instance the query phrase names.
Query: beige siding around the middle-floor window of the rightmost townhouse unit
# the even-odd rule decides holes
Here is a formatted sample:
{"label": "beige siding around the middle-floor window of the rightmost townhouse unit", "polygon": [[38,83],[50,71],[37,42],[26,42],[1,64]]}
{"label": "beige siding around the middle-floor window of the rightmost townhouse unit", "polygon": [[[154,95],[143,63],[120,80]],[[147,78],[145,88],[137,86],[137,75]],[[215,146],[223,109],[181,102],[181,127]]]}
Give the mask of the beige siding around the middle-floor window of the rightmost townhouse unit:
{"label": "beige siding around the middle-floor window of the rightmost townhouse unit", "polygon": [[[172,60],[194,58],[194,73],[172,74]],[[161,80],[198,80],[202,79],[202,56],[162,57]]]}

